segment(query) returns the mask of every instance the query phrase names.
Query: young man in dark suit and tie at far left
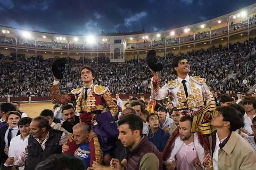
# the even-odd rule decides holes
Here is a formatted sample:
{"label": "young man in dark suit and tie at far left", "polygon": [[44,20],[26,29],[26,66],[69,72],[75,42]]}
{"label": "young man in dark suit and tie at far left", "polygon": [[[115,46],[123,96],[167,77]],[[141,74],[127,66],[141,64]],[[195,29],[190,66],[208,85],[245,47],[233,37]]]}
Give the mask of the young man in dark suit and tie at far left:
{"label": "young man in dark suit and tie at far left", "polygon": [[1,157],[1,167],[4,168],[3,164],[6,159],[8,159],[8,151],[12,138],[19,135],[19,127],[17,123],[21,119],[21,115],[17,111],[8,112],[6,115],[7,126],[0,128],[0,157]]}

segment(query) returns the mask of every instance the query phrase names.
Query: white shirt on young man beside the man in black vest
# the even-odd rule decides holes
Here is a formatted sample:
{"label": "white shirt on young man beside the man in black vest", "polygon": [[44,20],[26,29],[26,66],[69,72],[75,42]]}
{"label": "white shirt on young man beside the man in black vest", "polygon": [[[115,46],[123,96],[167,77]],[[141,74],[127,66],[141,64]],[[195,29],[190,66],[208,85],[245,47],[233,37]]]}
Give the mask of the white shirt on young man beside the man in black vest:
{"label": "white shirt on young man beside the man in black vest", "polygon": [[[9,152],[8,152],[8,157],[14,157],[14,161],[13,164],[11,165],[7,165],[4,164],[4,166],[9,167],[9,166],[13,166],[15,164],[15,161],[17,161],[17,159],[19,158],[22,149],[24,148],[27,140],[28,140],[29,136],[27,136],[24,140],[21,138],[21,135],[15,136],[14,138],[12,138],[11,143],[10,143],[10,148],[9,148]],[[19,167],[19,170],[24,170],[24,166],[23,167]]]}

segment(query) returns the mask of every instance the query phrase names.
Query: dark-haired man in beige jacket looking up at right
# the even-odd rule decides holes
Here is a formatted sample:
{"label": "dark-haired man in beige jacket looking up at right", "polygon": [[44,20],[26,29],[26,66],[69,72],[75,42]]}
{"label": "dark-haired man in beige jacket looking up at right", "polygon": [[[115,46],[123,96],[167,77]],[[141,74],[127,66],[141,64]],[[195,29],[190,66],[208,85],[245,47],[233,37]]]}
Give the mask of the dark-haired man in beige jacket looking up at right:
{"label": "dark-haired man in beige jacket looking up at right", "polygon": [[[216,108],[211,125],[216,128],[211,133],[213,169],[255,170],[253,148],[235,132],[243,125],[242,113],[230,106]],[[196,169],[199,170],[201,164],[198,158],[194,160]]]}

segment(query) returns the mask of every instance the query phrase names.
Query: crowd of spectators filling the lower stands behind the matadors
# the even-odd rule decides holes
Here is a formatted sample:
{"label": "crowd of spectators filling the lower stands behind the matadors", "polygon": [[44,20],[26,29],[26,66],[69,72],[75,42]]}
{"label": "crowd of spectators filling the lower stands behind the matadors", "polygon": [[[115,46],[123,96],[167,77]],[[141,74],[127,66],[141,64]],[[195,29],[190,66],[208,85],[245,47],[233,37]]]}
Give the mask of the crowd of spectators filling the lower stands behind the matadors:
{"label": "crowd of spectators filling the lower stands behind the matadors", "polygon": [[[250,40],[250,45],[255,49],[256,39]],[[210,55],[209,48],[198,51],[187,51],[191,76],[204,77],[211,90],[247,92],[255,85],[256,58],[246,57],[250,52],[247,41],[230,44],[230,52],[227,45],[213,46]],[[196,53],[196,55],[194,55]],[[0,59],[6,58],[0,55]],[[49,84],[53,82],[51,65],[52,59],[44,59],[42,55],[30,56],[25,54],[11,53],[10,60],[14,62],[0,61],[0,94],[1,95],[49,95]],[[159,57],[159,56],[158,56]],[[165,65],[170,65],[175,57],[173,53],[159,57]],[[35,59],[36,58],[36,59]],[[58,59],[58,56],[54,57]],[[61,93],[71,91],[81,85],[77,70],[82,65],[91,65],[96,69],[95,83],[107,86],[111,93],[115,94],[149,94],[148,84],[152,77],[145,59],[131,59],[124,63],[111,63],[105,56],[88,59],[80,57],[79,60],[66,57],[69,63],[66,65],[64,79],[61,80]],[[139,67],[138,67],[139,65]],[[170,66],[160,72],[161,85],[175,79]]]}

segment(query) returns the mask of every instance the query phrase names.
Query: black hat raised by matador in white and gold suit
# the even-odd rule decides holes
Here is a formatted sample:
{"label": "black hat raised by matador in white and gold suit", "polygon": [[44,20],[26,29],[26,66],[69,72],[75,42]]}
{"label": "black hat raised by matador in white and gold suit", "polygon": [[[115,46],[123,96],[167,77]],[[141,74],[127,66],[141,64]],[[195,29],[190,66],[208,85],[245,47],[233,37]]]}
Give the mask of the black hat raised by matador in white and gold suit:
{"label": "black hat raised by matador in white and gold suit", "polygon": [[162,71],[164,66],[156,57],[156,51],[150,50],[147,54],[148,67],[153,71]]}

